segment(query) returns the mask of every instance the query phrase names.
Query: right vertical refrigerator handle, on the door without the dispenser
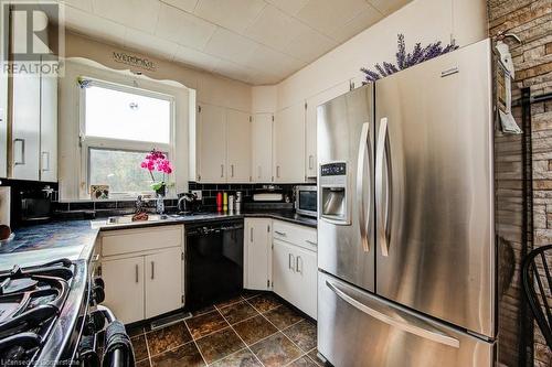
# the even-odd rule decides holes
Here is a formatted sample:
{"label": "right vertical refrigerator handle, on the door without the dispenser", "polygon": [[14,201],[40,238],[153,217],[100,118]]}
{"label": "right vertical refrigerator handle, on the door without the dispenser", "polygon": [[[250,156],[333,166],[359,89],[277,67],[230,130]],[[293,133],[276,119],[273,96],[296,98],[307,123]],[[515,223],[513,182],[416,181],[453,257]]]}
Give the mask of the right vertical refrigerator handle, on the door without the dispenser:
{"label": "right vertical refrigerator handle, on the door without the dispenser", "polygon": [[[383,256],[389,256],[389,218],[391,197],[391,164],[389,163],[389,132],[388,118],[380,120],[378,131],[378,147],[375,151],[375,206],[378,208],[378,239],[380,241]],[[383,163],[385,162],[386,175],[383,174]],[[385,183],[384,183],[385,181]],[[385,205],[382,203],[383,185],[385,184]]]}

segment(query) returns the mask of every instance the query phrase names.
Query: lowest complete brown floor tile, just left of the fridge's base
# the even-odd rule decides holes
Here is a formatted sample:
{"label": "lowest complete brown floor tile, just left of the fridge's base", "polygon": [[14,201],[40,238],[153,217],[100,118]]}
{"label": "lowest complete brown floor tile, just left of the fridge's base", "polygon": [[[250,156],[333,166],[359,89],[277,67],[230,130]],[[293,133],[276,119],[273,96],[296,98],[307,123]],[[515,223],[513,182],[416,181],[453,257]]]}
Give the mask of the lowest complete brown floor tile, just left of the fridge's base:
{"label": "lowest complete brown floor tile, just left of the fridge's base", "polygon": [[285,366],[301,355],[284,334],[277,333],[251,346],[265,367]]}

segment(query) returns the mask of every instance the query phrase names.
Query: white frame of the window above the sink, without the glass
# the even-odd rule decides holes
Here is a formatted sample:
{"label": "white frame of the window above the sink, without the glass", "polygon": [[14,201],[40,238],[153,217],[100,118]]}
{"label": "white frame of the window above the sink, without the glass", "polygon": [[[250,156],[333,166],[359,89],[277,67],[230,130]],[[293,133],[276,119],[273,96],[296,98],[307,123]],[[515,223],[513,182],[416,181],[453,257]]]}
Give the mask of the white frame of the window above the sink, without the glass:
{"label": "white frame of the window above the sink, without the glass", "polygon": [[[104,149],[104,150],[116,150],[116,151],[144,151],[149,152],[152,149],[157,149],[159,151],[162,151],[167,153],[168,158],[172,161],[174,154],[176,154],[176,120],[177,120],[177,114],[176,114],[176,98],[174,96],[155,91],[155,90],[149,90],[149,89],[144,89],[144,88],[138,88],[138,87],[132,87],[128,86],[125,84],[118,84],[118,83],[112,83],[107,80],[100,80],[97,78],[93,77],[83,77],[88,82],[89,86],[96,86],[100,88],[106,88],[106,89],[112,89],[112,90],[117,90],[117,91],[124,91],[124,93],[131,93],[136,94],[139,96],[145,96],[145,97],[152,97],[152,98],[159,98],[163,100],[168,100],[170,102],[170,142],[169,143],[158,143],[158,142],[149,142],[149,141],[137,141],[137,140],[127,140],[127,139],[113,139],[113,138],[100,138],[100,137],[87,137],[85,131],[86,131],[86,87],[81,88],[79,90],[79,96],[78,96],[78,102],[79,102],[79,136],[78,136],[78,143],[81,148],[81,182],[84,182],[85,185],[79,185],[79,194],[78,196],[81,198],[89,198],[89,187],[91,187],[91,182],[89,182],[89,172],[91,172],[91,165],[89,165],[89,151],[92,149]],[[167,184],[169,187],[173,187],[176,185],[176,177],[174,174],[168,175]],[[136,193],[136,192],[109,192],[109,198],[114,199],[128,199],[128,198],[136,198],[137,195],[152,195],[152,191],[148,192],[141,192],[141,193]],[[171,196],[171,195],[168,195]]]}

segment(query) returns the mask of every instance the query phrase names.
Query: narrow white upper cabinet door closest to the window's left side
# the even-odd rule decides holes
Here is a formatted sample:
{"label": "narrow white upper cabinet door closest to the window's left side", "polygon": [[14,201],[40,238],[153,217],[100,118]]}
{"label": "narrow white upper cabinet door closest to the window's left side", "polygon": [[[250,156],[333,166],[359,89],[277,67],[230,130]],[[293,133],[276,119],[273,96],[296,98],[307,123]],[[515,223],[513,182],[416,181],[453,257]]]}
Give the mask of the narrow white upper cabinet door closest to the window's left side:
{"label": "narrow white upper cabinet door closest to the window's left side", "polygon": [[57,78],[41,78],[40,180],[57,181]]}

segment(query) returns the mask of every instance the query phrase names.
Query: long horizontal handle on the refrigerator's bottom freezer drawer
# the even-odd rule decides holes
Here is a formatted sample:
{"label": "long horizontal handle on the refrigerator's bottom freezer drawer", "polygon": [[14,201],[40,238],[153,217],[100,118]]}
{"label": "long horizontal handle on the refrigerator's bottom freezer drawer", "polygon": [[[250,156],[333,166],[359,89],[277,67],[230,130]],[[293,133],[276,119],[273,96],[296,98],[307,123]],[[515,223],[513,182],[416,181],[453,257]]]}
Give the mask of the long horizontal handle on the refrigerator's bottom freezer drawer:
{"label": "long horizontal handle on the refrigerator's bottom freezer drawer", "polygon": [[[344,302],[349,303],[357,310],[381,321],[382,323],[385,323],[388,325],[391,325],[393,327],[396,327],[403,332],[410,333],[417,335],[420,337],[440,343],[444,345],[448,345],[454,348],[459,348],[460,347],[460,342],[452,336],[448,336],[444,334],[443,332],[435,330],[435,328],[429,328],[431,326],[422,323],[422,322],[414,322],[411,317],[408,317],[407,314],[402,316],[399,314],[401,320],[397,320],[395,317],[392,317],[390,315],[386,315],[378,310],[374,310],[364,303],[358,301],[357,299],[352,298],[351,295],[347,294],[344,290],[341,289],[338,284],[335,284],[330,281],[326,281],[326,285],[333,291],[341,300]],[[400,312],[397,310],[394,310],[395,312]],[[416,325],[417,324],[417,325]],[[429,326],[429,327],[428,327]]]}

